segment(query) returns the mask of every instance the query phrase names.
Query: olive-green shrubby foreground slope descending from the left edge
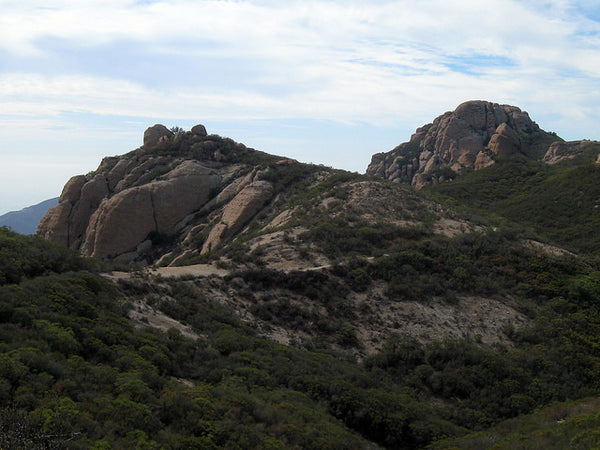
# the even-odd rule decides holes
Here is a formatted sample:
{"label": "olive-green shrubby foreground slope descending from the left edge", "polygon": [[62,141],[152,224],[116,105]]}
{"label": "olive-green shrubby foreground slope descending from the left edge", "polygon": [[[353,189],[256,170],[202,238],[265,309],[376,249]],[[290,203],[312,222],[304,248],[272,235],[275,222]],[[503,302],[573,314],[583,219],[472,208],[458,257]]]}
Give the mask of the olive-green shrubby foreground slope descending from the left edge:
{"label": "olive-green shrubby foreground slope descending from the left edge", "polygon": [[[133,329],[114,288],[86,273],[2,288],[6,445],[365,447],[316,399],[287,387],[290,358],[305,358],[297,370],[310,372],[317,355],[254,337],[229,311],[190,302],[193,291],[185,286],[174,286],[173,315],[185,316],[207,340]],[[179,301],[187,308],[178,309]],[[27,320],[19,313],[24,309]],[[332,361],[326,358],[322,368],[338,370]],[[14,417],[21,418],[18,426]]]}

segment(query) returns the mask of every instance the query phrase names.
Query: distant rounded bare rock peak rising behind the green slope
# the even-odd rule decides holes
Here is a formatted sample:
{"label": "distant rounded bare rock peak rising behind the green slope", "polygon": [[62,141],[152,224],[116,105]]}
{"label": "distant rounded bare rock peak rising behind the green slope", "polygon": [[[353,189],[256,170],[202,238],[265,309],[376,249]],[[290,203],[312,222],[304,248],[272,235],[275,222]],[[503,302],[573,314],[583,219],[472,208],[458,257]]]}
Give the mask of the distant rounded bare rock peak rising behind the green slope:
{"label": "distant rounded bare rock peak rising behind the green slope", "polygon": [[537,136],[547,136],[516,106],[468,101],[418,128],[410,141],[373,155],[367,174],[413,184],[417,189],[528,154]]}

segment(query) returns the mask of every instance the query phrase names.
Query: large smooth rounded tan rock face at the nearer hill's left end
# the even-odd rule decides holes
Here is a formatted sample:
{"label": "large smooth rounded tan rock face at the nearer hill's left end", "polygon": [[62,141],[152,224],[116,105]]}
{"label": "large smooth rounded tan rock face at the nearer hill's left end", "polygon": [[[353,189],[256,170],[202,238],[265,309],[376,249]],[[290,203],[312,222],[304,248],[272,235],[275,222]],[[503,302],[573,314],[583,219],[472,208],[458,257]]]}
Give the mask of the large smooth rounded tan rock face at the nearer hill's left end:
{"label": "large smooth rounded tan rock face at the nearer hill's left end", "polygon": [[[141,173],[115,191],[110,180],[115,169],[122,170],[123,161],[108,167],[101,164],[92,176],[73,177],[59,204],[42,219],[38,234],[81,249],[88,256],[114,259],[135,252],[151,233],[177,232],[182,220],[200,209],[221,182],[216,171],[197,161],[175,161],[161,179],[135,186]],[[153,159],[148,169],[164,167],[165,163]],[[123,171],[121,180],[131,173]]]}

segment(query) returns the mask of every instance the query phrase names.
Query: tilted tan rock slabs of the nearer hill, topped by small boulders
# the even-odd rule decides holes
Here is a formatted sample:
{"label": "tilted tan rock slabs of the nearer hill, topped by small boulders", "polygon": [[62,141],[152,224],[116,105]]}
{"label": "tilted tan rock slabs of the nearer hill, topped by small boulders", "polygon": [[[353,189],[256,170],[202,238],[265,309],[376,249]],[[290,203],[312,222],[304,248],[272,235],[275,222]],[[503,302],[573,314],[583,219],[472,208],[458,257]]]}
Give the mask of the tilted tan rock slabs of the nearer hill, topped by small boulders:
{"label": "tilted tan rock slabs of the nearer hill, topped by small boulders", "polygon": [[221,219],[204,246],[238,232],[271,198],[272,185],[236,162],[254,150],[208,136],[203,125],[192,130],[174,135],[154,125],[143,147],[71,178],[38,234],[85,255],[129,262],[149,257],[157,243],[196,225],[195,215],[215,209]]}

